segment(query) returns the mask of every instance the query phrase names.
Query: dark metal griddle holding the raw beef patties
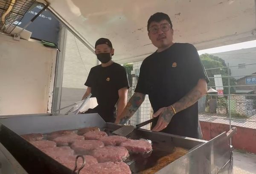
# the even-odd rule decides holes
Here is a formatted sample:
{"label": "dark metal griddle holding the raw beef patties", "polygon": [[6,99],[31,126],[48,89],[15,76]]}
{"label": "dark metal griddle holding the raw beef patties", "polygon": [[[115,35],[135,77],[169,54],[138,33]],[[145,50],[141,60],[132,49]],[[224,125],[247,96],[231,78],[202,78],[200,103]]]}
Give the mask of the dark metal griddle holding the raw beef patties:
{"label": "dark metal griddle holding the raw beef patties", "polygon": [[[98,114],[24,116],[0,120],[0,142],[29,174],[71,174],[72,171],[69,168],[62,166],[35,148],[20,135],[29,133],[47,134],[58,130],[76,130],[93,126],[101,128],[108,135],[111,135],[111,132],[121,127],[113,123],[105,123]],[[153,146],[153,152],[149,156],[131,155],[125,161],[129,164],[134,174],[151,168],[157,163],[158,159],[172,154],[175,146],[183,149],[192,149],[198,144],[207,142],[162,132],[151,132],[145,129],[134,129],[127,137],[151,140]]]}

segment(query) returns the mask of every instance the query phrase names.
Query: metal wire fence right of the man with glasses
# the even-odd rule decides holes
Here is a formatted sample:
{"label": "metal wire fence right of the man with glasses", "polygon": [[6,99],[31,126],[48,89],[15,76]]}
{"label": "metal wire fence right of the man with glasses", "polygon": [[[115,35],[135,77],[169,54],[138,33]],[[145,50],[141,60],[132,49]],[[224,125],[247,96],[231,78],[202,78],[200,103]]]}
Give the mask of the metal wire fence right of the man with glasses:
{"label": "metal wire fence right of the man with glasses", "polygon": [[[256,63],[245,64],[243,66],[255,66],[256,72]],[[227,68],[227,74],[221,76],[222,80],[227,79],[227,81],[225,81],[225,85],[208,86],[208,89],[223,87],[226,93],[223,93],[221,95],[216,93],[208,93],[203,98],[201,98],[201,100],[198,103],[198,107],[201,107],[201,111],[199,112],[199,119],[201,121],[229,124],[230,128],[231,126],[242,126],[251,129],[256,129],[256,82],[253,81],[255,82],[255,84],[246,84],[247,77],[256,77],[256,74],[248,75],[247,73],[244,73],[246,75],[232,76],[230,73],[230,67],[239,67],[239,65],[229,66],[228,64],[226,67],[206,69],[208,73],[211,70],[223,70],[224,68]],[[234,80],[235,77],[240,76],[240,79]],[[215,78],[220,77],[209,77],[211,81]],[[234,82],[231,84],[231,79],[236,83],[239,82],[239,84],[234,84]],[[242,81],[244,82],[244,84],[242,83]],[[241,92],[243,92],[244,90],[244,93],[232,93],[231,89],[236,91],[242,90]],[[202,104],[203,101],[205,101],[204,111],[202,111],[203,107],[200,106],[200,104]]]}

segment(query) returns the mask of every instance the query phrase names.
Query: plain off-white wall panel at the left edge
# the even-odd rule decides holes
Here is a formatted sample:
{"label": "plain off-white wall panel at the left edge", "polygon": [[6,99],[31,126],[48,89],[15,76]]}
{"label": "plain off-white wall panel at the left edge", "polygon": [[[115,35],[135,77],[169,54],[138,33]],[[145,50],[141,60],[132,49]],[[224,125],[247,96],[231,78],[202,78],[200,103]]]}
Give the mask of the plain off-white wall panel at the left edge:
{"label": "plain off-white wall panel at the left edge", "polygon": [[56,53],[0,34],[0,115],[47,113]]}

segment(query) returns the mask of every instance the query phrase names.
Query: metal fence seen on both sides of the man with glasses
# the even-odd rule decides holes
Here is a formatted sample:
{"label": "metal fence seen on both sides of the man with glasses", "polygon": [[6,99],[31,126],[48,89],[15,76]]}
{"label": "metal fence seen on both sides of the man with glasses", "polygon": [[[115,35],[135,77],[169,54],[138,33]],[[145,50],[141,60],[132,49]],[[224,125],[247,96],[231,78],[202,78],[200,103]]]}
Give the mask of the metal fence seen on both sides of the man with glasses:
{"label": "metal fence seen on both sides of the man with glasses", "polygon": [[[134,64],[134,69],[140,68],[141,62],[136,62]],[[245,67],[247,66],[255,66],[255,72],[256,72],[256,63],[253,64],[246,64],[243,65]],[[237,77],[244,78],[244,81],[246,77],[256,77],[256,74],[248,74],[248,73],[241,73],[242,75],[232,75],[230,73],[230,67],[235,68],[239,67],[237,66],[226,66],[226,67],[216,67],[216,68],[209,68],[206,69],[207,72],[211,70],[217,70],[217,69],[225,69],[228,68],[227,71],[225,71],[225,74],[222,74],[221,77],[209,77],[210,81],[214,81],[215,78],[221,78],[225,83],[224,85],[219,85],[217,87],[223,87],[224,93],[223,95],[218,95],[217,93],[213,94],[207,94],[203,98],[201,98],[198,102],[198,107],[200,108],[200,104],[204,105],[201,106],[201,112],[199,112],[199,119],[201,121],[207,121],[207,122],[216,122],[216,123],[224,123],[231,126],[241,126],[241,127],[247,127],[251,129],[256,129],[256,84],[236,84],[232,81],[239,81]],[[220,71],[221,72],[221,71]],[[223,71],[222,71],[223,72]],[[215,73],[211,73],[212,76],[214,76]],[[236,79],[235,79],[236,78]],[[240,78],[240,79],[241,79]],[[216,88],[215,83],[211,83],[212,85],[208,86],[208,89],[210,87]],[[214,84],[214,85],[213,85]],[[137,85],[137,80],[134,77],[132,87],[129,91],[129,97],[131,97],[135,87]],[[254,93],[233,93],[232,90],[237,89],[246,89],[246,88],[252,88],[255,89]],[[232,90],[231,90],[232,89]],[[209,98],[215,99],[215,108],[213,109],[214,112],[209,112]],[[202,104],[204,103],[204,104]],[[242,106],[244,105],[244,106]],[[148,107],[151,108],[149,105],[143,105],[143,110],[148,110]],[[200,109],[199,109],[200,110]],[[140,123],[142,119],[149,118],[148,112],[137,112],[134,114],[134,117],[131,118],[130,122],[131,124]],[[139,120],[138,120],[139,119]]]}

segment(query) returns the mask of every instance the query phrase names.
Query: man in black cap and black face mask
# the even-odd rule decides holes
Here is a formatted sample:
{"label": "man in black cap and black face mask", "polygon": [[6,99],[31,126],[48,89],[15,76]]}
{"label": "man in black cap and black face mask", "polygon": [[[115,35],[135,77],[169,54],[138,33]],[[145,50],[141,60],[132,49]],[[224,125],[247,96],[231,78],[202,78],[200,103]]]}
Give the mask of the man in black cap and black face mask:
{"label": "man in black cap and black face mask", "polygon": [[[95,53],[101,65],[92,67],[85,86],[83,98],[92,93],[96,97],[98,106],[84,113],[98,113],[105,122],[114,122],[127,103],[129,88],[125,68],[112,61],[114,49],[109,39],[100,38],[95,43]],[[116,105],[117,103],[117,114]]]}

